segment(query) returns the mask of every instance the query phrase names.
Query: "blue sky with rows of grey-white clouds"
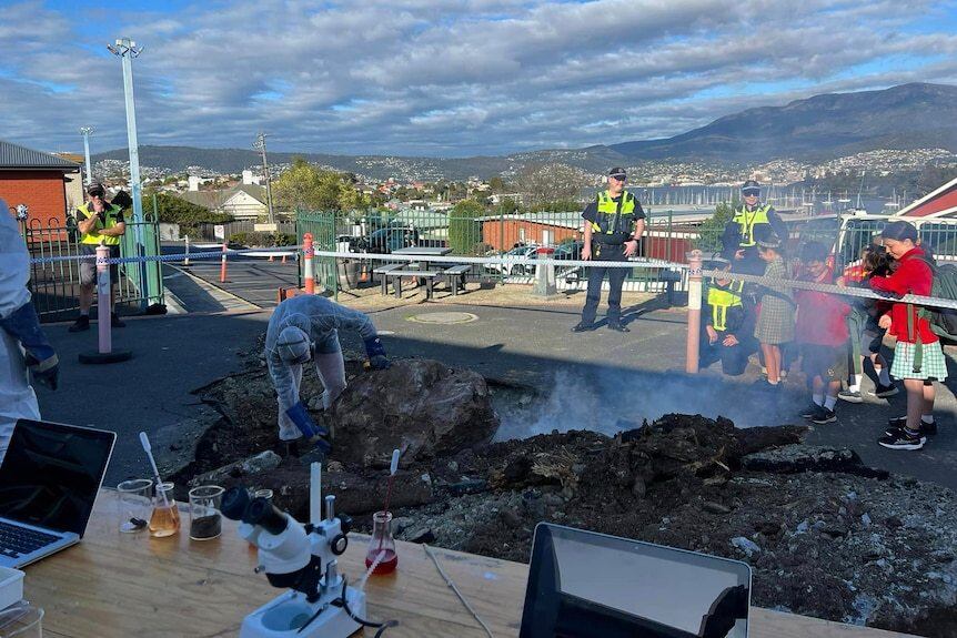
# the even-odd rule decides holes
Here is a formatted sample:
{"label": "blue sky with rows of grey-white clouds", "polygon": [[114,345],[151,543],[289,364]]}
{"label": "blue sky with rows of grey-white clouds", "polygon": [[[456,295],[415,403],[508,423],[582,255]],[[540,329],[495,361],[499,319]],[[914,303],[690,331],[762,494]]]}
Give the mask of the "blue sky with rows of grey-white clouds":
{"label": "blue sky with rows of grey-white clouds", "polygon": [[957,84],[957,0],[0,0],[0,139],[461,158],[666,138]]}

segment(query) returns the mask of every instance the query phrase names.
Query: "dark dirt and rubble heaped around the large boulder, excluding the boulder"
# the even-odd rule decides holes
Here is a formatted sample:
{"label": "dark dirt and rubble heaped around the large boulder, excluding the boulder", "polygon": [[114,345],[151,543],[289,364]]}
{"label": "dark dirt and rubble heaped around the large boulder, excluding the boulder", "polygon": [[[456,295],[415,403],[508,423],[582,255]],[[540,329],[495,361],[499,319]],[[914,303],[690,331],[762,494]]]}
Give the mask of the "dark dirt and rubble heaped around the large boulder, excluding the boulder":
{"label": "dark dirt and rubble heaped around the large boulder, excluding the boulder", "polygon": [[[354,364],[349,369],[361,374]],[[306,398],[321,392],[309,373],[303,387]],[[275,440],[275,398],[262,371],[202,396],[223,417],[178,477],[183,485]],[[400,538],[525,561],[534,526],[555,521],[746,560],[762,607],[957,635],[955,494],[888,477],[848,449],[805,446],[803,433],[666,415],[615,437],[463,440],[404,463],[395,526]],[[343,505],[350,503],[341,510],[367,524],[385,472],[341,448],[332,458]],[[276,503],[301,516],[306,462],[283,458],[276,469],[235,480],[272,487]]]}

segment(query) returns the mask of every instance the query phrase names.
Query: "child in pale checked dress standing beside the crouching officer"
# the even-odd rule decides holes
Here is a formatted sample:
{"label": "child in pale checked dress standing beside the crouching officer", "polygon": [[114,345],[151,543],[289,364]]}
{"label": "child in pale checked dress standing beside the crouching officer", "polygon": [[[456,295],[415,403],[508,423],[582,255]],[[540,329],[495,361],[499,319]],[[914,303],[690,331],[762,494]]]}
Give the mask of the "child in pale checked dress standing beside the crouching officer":
{"label": "child in pale checked dress standing beside the crouching officer", "polygon": [[[784,262],[783,242],[774,232],[757,240],[758,256],[765,263],[764,277],[786,280],[787,265]],[[760,343],[767,381],[758,381],[764,389],[777,391],[780,387],[780,348],[794,340],[794,297],[790,286],[784,283],[766,283],[757,291],[760,312],[754,328],[754,337]]]}

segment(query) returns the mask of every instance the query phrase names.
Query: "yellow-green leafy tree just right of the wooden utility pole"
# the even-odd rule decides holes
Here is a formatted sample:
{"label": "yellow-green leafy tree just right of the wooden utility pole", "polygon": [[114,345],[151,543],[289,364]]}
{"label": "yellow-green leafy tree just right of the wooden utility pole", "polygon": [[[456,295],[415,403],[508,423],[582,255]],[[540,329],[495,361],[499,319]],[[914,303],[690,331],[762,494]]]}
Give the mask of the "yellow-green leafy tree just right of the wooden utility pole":
{"label": "yellow-green leafy tree just right of the wooden utility pole", "polygon": [[319,170],[303,158],[295,158],[272,188],[280,206],[291,211],[343,211],[366,203],[347,173]]}

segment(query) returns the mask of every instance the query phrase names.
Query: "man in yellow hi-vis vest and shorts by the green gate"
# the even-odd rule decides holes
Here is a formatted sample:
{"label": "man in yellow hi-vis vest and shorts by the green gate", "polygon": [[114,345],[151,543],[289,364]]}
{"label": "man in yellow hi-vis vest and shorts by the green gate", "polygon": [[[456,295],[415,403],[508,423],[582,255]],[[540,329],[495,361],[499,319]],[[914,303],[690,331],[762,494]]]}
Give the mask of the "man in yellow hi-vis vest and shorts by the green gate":
{"label": "man in yellow hi-vis vest and shorts by the green gate", "polygon": [[[77,209],[77,229],[80,231],[80,254],[95,255],[101,243],[110,249],[110,257],[120,256],[120,237],[127,232],[127,223],[120,206],[105,200],[103,184],[90,184],[87,189],[89,201]],[[113,310],[117,281],[120,269],[110,264],[110,310]],[[94,260],[80,262],[80,316],[70,326],[70,332],[90,330],[90,306],[93,305],[93,286],[97,284],[97,263]],[[110,314],[112,327],[123,327],[115,312]]]}

